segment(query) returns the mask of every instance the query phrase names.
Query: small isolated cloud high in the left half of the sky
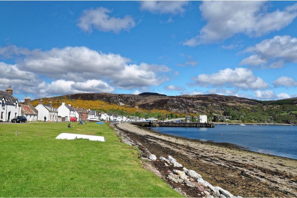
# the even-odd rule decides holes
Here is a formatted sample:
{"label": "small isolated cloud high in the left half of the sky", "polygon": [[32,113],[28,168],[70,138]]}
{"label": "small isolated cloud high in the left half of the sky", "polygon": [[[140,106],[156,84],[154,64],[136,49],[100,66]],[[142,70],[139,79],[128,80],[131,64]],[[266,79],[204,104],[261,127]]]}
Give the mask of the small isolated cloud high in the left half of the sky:
{"label": "small isolated cloud high in the left half of the sky", "polygon": [[93,32],[93,28],[102,32],[119,33],[122,30],[130,31],[135,27],[134,19],[126,15],[124,18],[110,17],[108,13],[111,11],[105,7],[96,9],[83,10],[82,16],[76,24],[84,32]]}

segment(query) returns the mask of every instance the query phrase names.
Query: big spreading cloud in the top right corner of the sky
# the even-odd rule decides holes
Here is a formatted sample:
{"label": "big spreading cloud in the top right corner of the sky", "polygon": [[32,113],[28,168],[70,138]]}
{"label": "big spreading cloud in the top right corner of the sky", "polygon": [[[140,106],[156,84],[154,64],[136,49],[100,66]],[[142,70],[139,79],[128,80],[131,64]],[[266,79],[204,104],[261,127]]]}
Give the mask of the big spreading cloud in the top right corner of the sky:
{"label": "big spreading cloud in the top right corner of the sky", "polygon": [[203,1],[199,6],[207,24],[187,46],[209,44],[242,33],[259,37],[288,26],[297,16],[297,4],[267,12],[266,1]]}

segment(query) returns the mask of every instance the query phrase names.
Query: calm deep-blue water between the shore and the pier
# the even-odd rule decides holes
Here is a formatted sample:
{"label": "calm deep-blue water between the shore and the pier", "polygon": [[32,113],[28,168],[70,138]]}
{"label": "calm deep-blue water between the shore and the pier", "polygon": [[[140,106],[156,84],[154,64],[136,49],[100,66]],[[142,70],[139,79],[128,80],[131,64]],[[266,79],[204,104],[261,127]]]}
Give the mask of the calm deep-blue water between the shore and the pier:
{"label": "calm deep-blue water between the shore and the pier", "polygon": [[297,126],[215,125],[215,128],[152,129],[173,136],[232,143],[251,151],[297,159]]}

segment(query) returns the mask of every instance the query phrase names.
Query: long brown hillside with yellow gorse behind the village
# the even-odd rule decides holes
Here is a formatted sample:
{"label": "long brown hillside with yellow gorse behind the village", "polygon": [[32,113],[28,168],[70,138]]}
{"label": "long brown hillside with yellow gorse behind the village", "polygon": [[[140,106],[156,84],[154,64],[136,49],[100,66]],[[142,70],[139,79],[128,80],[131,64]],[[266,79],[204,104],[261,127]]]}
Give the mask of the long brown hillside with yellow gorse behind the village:
{"label": "long brown hillside with yellow gorse behind the village", "polygon": [[[39,99],[31,101],[37,105]],[[248,122],[280,122],[297,121],[297,98],[277,101],[258,101],[248,98],[225,95],[180,95],[166,96],[157,93],[108,94],[108,93],[80,93],[63,95],[52,98],[43,98],[44,103],[52,101],[53,106],[57,101],[64,101],[74,107],[101,110],[126,115],[140,115],[145,113],[158,113],[165,116],[176,117],[184,115],[206,114],[218,118],[242,120]],[[142,115],[141,115],[142,116]],[[272,116],[272,117],[271,117]]]}

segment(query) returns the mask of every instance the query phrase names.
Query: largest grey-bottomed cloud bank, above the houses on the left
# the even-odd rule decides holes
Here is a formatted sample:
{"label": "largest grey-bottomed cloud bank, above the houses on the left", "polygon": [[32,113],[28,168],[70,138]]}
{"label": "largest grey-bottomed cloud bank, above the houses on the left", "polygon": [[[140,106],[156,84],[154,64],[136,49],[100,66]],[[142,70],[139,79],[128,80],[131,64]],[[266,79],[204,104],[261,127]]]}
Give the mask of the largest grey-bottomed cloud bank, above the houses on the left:
{"label": "largest grey-bottomed cloud bank, above the houses on the left", "polygon": [[[128,64],[131,61],[129,58],[87,47],[68,46],[48,51],[34,49],[26,52],[26,55],[19,55],[16,60],[16,64],[0,62],[0,88],[19,84],[19,90],[43,96],[66,92],[111,93],[115,86],[131,89],[160,85],[169,80],[166,73],[171,71],[166,65]],[[52,83],[44,82],[41,76],[52,79]],[[44,86],[47,88],[42,88]],[[64,91],[59,87],[64,87]]]}

